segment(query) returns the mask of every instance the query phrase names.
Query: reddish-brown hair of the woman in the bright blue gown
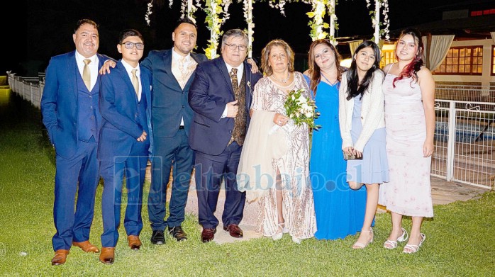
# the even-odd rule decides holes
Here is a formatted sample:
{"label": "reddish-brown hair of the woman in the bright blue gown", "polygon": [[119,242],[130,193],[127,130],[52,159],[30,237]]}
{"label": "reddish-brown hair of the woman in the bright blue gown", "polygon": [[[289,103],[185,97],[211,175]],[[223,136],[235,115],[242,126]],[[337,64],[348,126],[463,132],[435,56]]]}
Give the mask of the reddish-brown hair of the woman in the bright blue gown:
{"label": "reddish-brown hair of the woman in the bright blue gown", "polygon": [[311,80],[309,84],[309,89],[313,91],[313,94],[316,95],[316,87],[318,84],[320,84],[321,80],[321,70],[320,67],[318,67],[318,64],[315,62],[314,58],[314,50],[316,45],[327,45],[330,47],[330,50],[333,52],[333,58],[335,59],[335,67],[337,67],[337,79],[340,81],[342,78],[342,73],[344,72],[343,67],[340,67],[340,54],[337,52],[337,49],[335,49],[335,46],[333,46],[328,40],[315,40],[313,43],[311,43],[311,46],[309,47],[309,52],[308,52],[308,75],[309,79]]}

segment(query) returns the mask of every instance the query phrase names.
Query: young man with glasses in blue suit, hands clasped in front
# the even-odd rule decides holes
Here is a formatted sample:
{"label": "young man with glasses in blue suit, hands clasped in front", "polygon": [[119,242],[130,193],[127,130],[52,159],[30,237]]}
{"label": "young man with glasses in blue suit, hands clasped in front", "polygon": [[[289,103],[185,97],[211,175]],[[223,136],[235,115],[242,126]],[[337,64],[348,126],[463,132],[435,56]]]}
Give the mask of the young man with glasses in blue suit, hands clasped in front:
{"label": "young man with glasses in blue suit, hands clasped in front", "polygon": [[98,159],[105,183],[101,199],[104,232],[99,260],[104,264],[113,264],[115,257],[124,174],[127,207],[123,226],[130,249],[141,247],[143,183],[152,145],[151,72],[139,66],[144,48],[143,36],[137,30],[123,30],[117,45],[122,60],[117,62],[112,74],[101,76],[99,108],[103,125]]}

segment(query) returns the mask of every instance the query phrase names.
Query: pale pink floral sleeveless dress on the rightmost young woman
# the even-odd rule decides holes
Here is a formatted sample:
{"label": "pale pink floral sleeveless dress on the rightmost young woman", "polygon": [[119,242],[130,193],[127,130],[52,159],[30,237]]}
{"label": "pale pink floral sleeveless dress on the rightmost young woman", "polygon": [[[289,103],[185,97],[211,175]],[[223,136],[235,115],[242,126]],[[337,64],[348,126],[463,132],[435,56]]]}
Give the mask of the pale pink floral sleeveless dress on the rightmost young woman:
{"label": "pale pink floral sleeveless dress on the rightmost young woman", "polygon": [[426,120],[421,88],[411,78],[396,81],[394,88],[395,77],[386,74],[383,83],[390,181],[379,188],[379,204],[401,215],[433,217],[431,156],[423,157]]}

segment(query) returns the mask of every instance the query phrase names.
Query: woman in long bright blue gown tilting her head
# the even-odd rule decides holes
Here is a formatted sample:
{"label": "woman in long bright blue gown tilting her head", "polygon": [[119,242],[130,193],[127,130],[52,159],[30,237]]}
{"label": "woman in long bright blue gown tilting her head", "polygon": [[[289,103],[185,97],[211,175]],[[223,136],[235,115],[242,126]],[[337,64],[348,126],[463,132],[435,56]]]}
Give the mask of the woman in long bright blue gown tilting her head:
{"label": "woman in long bright blue gown tilting her head", "polygon": [[320,117],[313,130],[309,171],[313,186],[317,239],[343,239],[361,231],[366,190],[352,191],[346,182],[338,122],[338,89],[343,73],[340,55],[327,40],[315,40],[304,72]]}

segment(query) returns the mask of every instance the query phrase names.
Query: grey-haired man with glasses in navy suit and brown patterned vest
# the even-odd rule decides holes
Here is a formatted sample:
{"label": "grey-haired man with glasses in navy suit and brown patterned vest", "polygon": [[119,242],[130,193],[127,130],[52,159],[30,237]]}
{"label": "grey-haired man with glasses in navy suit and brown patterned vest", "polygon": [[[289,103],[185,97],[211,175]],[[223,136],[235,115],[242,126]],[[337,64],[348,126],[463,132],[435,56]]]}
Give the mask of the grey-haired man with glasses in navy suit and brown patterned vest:
{"label": "grey-haired man with glasses in navy suit and brown patterned vest", "polygon": [[203,62],[189,89],[189,104],[194,111],[189,145],[196,154],[196,190],[201,241],[214,238],[218,219],[215,213],[222,177],[226,202],[223,230],[232,237],[243,237],[245,193],[237,189],[235,174],[245,133],[249,125],[252,89],[262,77],[252,74],[247,54],[247,35],[243,30],[228,30],[222,38],[221,57]]}

